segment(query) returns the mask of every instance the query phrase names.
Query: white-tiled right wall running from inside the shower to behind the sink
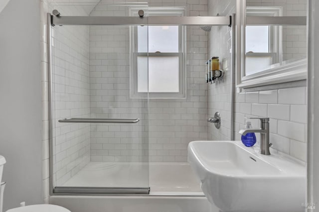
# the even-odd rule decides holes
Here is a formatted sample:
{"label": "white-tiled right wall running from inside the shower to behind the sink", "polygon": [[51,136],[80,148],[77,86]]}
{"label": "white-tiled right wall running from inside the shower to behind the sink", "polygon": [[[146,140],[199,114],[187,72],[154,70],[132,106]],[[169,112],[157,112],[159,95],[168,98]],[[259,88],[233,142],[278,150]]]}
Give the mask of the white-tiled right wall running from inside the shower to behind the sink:
{"label": "white-tiled right wall running from inside the shower to behind the sink", "polygon": [[[258,2],[261,2],[259,0]],[[269,3],[273,1],[267,0]],[[283,1],[280,1],[283,2]],[[292,2],[292,1],[290,1]],[[304,0],[295,0],[303,3]],[[213,0],[208,2],[208,15],[219,13],[229,15],[235,11],[236,0]],[[219,111],[222,126],[216,129],[208,124],[208,139],[223,140],[230,137],[230,29],[214,27],[209,34],[210,56],[220,56],[224,61],[226,79],[213,85],[208,85],[208,115],[211,117]],[[295,42],[292,42],[294,45]],[[228,63],[226,63],[226,61]],[[306,132],[307,106],[306,87],[273,89],[261,92],[244,92],[235,95],[235,140],[240,140],[239,129],[244,128],[245,117],[270,117],[270,140],[273,150],[292,156],[306,162]],[[224,124],[223,124],[224,123]],[[254,127],[258,127],[258,120],[253,120]],[[257,140],[259,140],[259,135]]]}

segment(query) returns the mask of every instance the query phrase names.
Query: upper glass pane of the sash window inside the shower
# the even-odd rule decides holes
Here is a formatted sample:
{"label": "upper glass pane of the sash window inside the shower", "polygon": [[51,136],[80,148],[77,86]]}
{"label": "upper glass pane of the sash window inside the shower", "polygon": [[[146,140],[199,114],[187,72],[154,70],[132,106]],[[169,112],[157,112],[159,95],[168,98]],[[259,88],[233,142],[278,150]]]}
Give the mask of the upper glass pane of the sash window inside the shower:
{"label": "upper glass pane of the sash window inside the shower", "polygon": [[138,26],[138,52],[178,52],[178,26]]}

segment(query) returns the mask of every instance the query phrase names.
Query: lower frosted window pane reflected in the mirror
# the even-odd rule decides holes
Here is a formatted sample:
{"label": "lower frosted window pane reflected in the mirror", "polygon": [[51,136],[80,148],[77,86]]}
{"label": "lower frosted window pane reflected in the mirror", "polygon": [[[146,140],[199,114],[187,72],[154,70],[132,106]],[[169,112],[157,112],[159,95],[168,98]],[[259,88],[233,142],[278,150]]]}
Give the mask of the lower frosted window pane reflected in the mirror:
{"label": "lower frosted window pane reflected in the mirror", "polygon": [[246,56],[246,76],[269,69],[272,63],[271,56]]}

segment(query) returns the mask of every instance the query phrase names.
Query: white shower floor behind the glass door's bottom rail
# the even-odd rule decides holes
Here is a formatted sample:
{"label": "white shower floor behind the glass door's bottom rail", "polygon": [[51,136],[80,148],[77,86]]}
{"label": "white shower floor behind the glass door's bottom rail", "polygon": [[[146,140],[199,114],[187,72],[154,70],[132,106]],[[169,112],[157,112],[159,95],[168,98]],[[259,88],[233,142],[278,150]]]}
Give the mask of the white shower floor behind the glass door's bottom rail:
{"label": "white shower floor behind the glass door's bottom rail", "polygon": [[90,162],[65,187],[150,187],[150,195],[204,196],[188,163]]}

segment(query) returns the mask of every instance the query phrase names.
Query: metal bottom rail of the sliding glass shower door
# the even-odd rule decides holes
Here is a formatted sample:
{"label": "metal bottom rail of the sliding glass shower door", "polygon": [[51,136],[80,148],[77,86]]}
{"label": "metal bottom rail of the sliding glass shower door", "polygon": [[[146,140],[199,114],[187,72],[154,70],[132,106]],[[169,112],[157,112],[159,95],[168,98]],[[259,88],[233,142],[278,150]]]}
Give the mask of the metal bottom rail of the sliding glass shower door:
{"label": "metal bottom rail of the sliding glass shower door", "polygon": [[128,188],[128,187],[55,187],[53,193],[56,195],[115,195],[115,194],[150,194],[150,187]]}

